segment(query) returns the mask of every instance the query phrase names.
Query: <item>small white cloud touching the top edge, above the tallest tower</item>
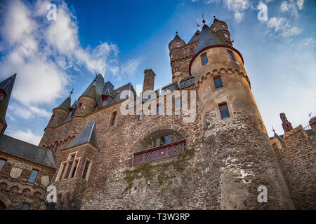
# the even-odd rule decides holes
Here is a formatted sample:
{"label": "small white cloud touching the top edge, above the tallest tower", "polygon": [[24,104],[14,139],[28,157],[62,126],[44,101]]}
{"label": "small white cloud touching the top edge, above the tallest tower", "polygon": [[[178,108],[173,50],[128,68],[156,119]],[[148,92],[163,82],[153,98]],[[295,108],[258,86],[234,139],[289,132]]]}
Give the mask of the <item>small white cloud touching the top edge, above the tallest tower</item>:
{"label": "small white cloud touching the top edge, above the tallest tower", "polygon": [[240,22],[244,17],[244,11],[249,9],[251,4],[249,0],[224,0],[224,6],[233,11],[236,22]]}

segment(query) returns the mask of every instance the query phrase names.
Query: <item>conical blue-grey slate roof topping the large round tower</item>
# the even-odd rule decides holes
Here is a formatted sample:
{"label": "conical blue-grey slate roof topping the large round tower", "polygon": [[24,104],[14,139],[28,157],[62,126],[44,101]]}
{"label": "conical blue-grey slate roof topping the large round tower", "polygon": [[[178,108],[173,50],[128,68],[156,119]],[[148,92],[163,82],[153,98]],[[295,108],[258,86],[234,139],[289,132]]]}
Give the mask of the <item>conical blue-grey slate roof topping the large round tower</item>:
{"label": "conical blue-grey slate roof topping the large round tower", "polygon": [[195,55],[200,50],[207,48],[212,45],[229,45],[225,43],[209,26],[204,25],[201,34],[199,34],[199,42],[197,43],[197,49]]}

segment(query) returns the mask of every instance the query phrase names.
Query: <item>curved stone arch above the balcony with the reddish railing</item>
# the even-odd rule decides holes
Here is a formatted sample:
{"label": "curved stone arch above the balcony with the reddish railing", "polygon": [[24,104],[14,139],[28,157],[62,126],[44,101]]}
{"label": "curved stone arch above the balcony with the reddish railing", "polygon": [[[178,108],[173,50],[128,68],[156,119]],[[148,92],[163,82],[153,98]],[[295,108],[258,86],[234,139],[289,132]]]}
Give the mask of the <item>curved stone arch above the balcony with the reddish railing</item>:
{"label": "curved stone arch above the balcony with the reddish railing", "polygon": [[166,135],[176,136],[176,141],[186,139],[188,141],[189,134],[178,125],[160,125],[152,128],[141,135],[140,139],[134,146],[134,152],[144,151],[150,147],[152,140]]}

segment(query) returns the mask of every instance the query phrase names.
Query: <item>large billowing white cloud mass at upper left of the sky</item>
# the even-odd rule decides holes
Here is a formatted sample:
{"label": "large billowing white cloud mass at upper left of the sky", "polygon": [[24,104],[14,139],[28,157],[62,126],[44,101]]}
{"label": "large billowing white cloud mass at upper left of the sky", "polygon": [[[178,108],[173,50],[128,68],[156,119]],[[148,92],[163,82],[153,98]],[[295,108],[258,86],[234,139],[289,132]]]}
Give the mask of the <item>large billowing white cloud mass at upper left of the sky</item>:
{"label": "large billowing white cloud mass at upper left of the sky", "polygon": [[77,20],[64,1],[56,3],[57,20],[46,20],[48,3],[6,1],[0,9],[0,49],[4,52],[0,80],[17,73],[12,97],[39,116],[47,115],[34,108],[65,97],[71,78],[67,69],[87,69],[94,75],[105,68],[105,76],[114,71],[119,77],[119,71],[126,68],[118,62],[117,45],[104,42],[93,49],[80,45]]}

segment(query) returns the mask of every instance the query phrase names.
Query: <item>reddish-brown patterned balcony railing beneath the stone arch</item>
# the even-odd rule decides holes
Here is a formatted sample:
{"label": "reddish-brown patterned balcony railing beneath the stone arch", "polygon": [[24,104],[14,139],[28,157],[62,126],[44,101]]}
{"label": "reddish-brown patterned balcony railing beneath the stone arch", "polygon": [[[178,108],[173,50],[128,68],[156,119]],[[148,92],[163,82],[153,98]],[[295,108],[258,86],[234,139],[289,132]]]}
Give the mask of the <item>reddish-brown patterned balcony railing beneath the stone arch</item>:
{"label": "reddish-brown patterned balcony railing beneath the stone arch", "polygon": [[150,148],[145,151],[134,153],[134,165],[173,157],[179,155],[179,152],[185,153],[185,139],[181,141],[175,141],[164,146],[158,146],[156,148]]}

